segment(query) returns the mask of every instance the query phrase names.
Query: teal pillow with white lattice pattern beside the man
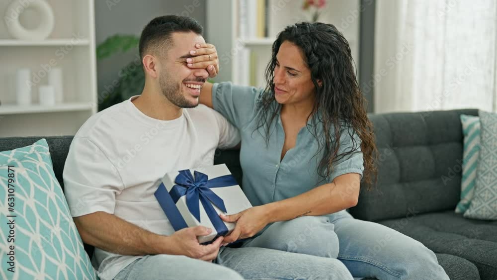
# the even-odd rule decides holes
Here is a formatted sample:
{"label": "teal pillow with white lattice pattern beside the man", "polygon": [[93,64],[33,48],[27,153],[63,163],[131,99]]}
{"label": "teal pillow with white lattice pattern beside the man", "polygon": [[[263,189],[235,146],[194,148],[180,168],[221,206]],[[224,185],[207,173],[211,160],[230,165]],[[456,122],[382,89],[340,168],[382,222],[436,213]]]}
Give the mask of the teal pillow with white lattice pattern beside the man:
{"label": "teal pillow with white lattice pattern beside the man", "polygon": [[[55,178],[45,139],[0,152],[0,185],[0,278],[97,279]],[[10,201],[8,194],[13,194]],[[9,238],[6,224],[12,220]],[[10,246],[14,260],[8,264]]]}

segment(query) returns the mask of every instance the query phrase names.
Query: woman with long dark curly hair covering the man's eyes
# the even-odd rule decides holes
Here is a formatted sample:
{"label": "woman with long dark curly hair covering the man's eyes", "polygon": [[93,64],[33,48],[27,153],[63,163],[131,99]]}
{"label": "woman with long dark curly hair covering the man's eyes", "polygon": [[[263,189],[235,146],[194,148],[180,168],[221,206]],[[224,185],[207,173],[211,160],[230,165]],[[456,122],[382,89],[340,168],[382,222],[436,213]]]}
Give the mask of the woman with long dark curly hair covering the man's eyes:
{"label": "woman with long dark curly hair covering the man's eyes", "polygon": [[353,277],[449,279],[421,243],[345,210],[357,204],[360,181],[375,177],[376,147],[343,35],[324,23],[286,27],[266,82],[264,90],[220,83],[201,91],[201,103],[240,129],[243,188],[254,205],[223,216],[237,222],[224,242],[252,237],[242,247],[338,258]]}

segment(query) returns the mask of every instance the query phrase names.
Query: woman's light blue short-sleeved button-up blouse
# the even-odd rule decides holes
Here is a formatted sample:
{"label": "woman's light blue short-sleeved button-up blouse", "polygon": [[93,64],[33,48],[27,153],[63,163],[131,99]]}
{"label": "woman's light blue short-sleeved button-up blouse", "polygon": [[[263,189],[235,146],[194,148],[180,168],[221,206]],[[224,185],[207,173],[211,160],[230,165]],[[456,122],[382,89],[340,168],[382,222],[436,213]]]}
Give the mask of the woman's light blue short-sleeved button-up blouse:
{"label": "woman's light blue short-sleeved button-up blouse", "polygon": [[[240,130],[242,187],[253,206],[299,195],[314,187],[331,183],[335,177],[346,173],[358,173],[362,176],[363,158],[359,149],[337,163],[329,178],[320,177],[317,167],[322,154],[314,157],[318,143],[307,127],[299,131],[295,147],[288,150],[280,162],[285,142],[280,114],[270,124],[272,133],[267,145],[264,128],[255,130],[256,101],[261,93],[262,89],[235,86],[230,82],[214,84],[212,88],[214,109]],[[334,132],[331,130],[331,133]],[[354,134],[356,146],[360,145],[359,137],[355,136]],[[342,133],[338,153],[351,149],[351,137],[348,133]]]}

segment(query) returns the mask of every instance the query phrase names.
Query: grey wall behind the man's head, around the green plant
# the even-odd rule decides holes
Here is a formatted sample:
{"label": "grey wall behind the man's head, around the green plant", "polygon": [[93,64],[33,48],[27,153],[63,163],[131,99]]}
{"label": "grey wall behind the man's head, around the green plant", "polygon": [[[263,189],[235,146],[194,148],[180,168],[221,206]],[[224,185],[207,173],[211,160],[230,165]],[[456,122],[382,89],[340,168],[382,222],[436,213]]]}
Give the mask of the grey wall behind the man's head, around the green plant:
{"label": "grey wall behind the man's head, around the green plant", "polygon": [[[96,0],[95,35],[96,44],[114,34],[135,34],[140,36],[143,27],[154,17],[166,14],[187,15],[205,26],[206,0]],[[204,32],[206,37],[206,32]],[[138,49],[126,54],[116,54],[97,61],[98,94],[109,88],[118,77],[122,67],[135,59]],[[136,93],[140,94],[140,93]]]}

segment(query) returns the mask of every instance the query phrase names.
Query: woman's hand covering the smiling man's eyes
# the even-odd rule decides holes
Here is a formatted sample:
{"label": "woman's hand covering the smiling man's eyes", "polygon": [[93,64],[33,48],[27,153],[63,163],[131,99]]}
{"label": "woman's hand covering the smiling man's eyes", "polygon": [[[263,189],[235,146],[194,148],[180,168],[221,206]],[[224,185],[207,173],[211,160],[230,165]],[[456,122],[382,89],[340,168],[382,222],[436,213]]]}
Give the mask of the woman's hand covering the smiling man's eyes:
{"label": "woman's hand covering the smiling man's eyes", "polygon": [[212,44],[196,44],[196,50],[190,50],[194,57],[187,58],[186,62],[189,68],[207,69],[209,78],[214,78],[219,73],[219,59],[216,47]]}

